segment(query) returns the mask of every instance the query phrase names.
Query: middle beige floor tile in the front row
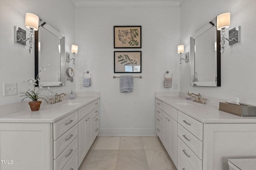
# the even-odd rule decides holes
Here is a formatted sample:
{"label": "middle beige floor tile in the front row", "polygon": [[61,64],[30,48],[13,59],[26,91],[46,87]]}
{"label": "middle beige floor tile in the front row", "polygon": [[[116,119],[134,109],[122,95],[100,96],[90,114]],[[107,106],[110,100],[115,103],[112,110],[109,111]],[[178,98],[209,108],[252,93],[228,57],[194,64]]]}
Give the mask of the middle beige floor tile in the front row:
{"label": "middle beige floor tile in the front row", "polygon": [[116,170],[148,170],[144,150],[119,150]]}

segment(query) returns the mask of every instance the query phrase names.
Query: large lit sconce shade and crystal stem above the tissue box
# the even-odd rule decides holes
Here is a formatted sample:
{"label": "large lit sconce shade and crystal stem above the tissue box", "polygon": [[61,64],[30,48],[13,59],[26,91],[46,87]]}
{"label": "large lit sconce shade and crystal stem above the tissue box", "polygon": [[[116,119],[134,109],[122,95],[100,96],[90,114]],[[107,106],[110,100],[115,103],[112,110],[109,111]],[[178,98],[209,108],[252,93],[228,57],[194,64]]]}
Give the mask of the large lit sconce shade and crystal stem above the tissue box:
{"label": "large lit sconce shade and crystal stem above the tissue box", "polygon": [[225,29],[230,27],[230,13],[226,12],[223,14],[220,14],[217,16],[217,30],[221,30],[221,41],[220,41],[220,52],[225,52],[225,45],[226,40],[229,41],[228,38],[226,38]]}

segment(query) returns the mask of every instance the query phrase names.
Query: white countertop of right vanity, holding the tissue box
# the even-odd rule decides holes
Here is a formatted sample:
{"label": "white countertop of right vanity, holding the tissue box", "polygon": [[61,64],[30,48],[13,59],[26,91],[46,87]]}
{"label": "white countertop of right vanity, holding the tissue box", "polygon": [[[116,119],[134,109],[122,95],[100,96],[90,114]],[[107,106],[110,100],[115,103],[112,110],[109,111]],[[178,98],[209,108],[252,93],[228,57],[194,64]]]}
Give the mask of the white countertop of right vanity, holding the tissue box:
{"label": "white countertop of right vanity, holding the tissue box", "polygon": [[[219,111],[218,106],[214,105],[179,105],[175,101],[186,101],[181,97],[160,97],[156,99],[178,109],[179,111],[193,117],[202,123],[256,123],[256,117],[240,117]],[[192,101],[189,101],[193,103]]]}

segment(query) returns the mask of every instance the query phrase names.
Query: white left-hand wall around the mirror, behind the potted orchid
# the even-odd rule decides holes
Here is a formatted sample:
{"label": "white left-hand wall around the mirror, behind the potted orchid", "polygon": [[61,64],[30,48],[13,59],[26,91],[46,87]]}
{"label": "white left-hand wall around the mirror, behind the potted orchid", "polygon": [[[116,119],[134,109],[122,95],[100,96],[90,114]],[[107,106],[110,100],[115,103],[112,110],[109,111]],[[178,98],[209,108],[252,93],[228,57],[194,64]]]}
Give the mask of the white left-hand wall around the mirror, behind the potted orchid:
{"label": "white left-hand wall around the mirror, behind the potted orchid", "polygon": [[[20,102],[22,99],[20,92],[31,88],[23,81],[34,77],[34,53],[28,52],[28,45],[23,46],[14,42],[14,26],[26,30],[28,37],[29,30],[24,26],[26,12],[38,15],[61,32],[65,36],[66,52],[70,53],[71,44],[75,42],[75,8],[70,0],[1,0],[0,105]],[[66,63],[67,67],[73,67],[72,63]],[[18,83],[18,95],[4,97],[3,83]],[[70,93],[70,90],[75,90],[75,84],[66,81],[66,86],[52,87],[52,89],[56,93]]]}

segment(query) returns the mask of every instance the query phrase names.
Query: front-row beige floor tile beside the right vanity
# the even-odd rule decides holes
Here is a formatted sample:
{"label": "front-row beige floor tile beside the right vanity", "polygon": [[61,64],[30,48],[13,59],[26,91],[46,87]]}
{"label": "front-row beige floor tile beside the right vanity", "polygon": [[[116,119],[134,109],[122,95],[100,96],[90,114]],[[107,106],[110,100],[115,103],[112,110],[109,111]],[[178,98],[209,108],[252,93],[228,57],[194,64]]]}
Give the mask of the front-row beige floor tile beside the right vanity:
{"label": "front-row beige floor tile beside the right vanity", "polygon": [[149,170],[177,170],[165,150],[145,150]]}

